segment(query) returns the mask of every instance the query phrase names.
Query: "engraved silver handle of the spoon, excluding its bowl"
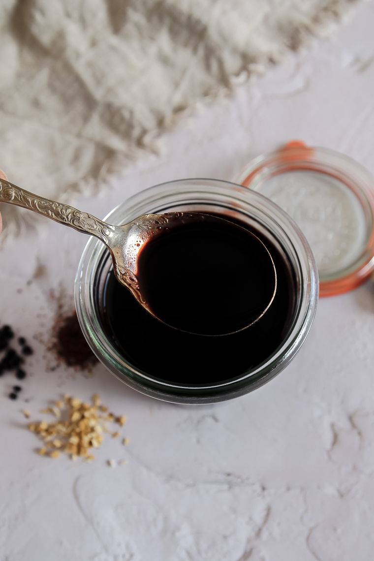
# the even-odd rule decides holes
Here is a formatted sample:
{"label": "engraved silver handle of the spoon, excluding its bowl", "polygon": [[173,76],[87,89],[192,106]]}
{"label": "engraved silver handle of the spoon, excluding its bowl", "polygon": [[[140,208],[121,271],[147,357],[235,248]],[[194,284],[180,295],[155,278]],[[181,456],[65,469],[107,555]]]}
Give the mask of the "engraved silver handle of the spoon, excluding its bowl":
{"label": "engraved silver handle of the spoon, excluding its bowl", "polygon": [[81,212],[73,206],[44,199],[44,197],[29,193],[29,191],[25,191],[3,179],[0,180],[0,203],[10,203],[24,209],[33,210],[55,220],[55,222],[70,226],[78,232],[95,236],[105,245],[109,244],[110,234],[114,232],[114,226],[95,218],[91,214]]}

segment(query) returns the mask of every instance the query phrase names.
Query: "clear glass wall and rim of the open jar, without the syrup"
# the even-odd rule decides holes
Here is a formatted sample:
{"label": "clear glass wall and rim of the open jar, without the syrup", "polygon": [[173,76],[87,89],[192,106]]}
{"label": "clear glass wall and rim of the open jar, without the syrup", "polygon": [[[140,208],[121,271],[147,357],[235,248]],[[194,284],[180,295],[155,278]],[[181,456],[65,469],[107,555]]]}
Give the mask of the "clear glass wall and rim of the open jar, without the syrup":
{"label": "clear glass wall and rim of the open jar, without the syrup", "polygon": [[[214,403],[241,396],[279,374],[306,339],[318,301],[315,259],[301,230],[279,206],[254,191],[226,181],[191,179],[162,183],[130,197],[112,210],[105,220],[118,225],[143,214],[171,211],[209,212],[239,220],[276,247],[287,263],[294,287],[292,309],[278,348],[261,364],[240,375],[232,377],[228,367],[227,379],[217,383],[179,384],[140,370],[121,355],[105,328],[103,293],[112,260],[106,247],[96,238],[90,238],[87,243],[75,280],[75,304],[82,331],[95,355],[112,374],[148,396],[190,404]],[[235,356],[231,358],[234,364]],[[178,364],[175,367],[177,369]]]}

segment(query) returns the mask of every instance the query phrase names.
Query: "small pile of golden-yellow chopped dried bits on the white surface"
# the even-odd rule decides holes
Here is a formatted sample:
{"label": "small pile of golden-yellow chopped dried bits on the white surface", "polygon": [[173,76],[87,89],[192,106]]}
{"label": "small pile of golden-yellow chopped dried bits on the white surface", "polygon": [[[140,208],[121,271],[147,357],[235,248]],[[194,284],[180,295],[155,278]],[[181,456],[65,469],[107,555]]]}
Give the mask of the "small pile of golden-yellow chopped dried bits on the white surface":
{"label": "small pile of golden-yellow chopped dried bits on the white surface", "polygon": [[63,452],[69,454],[71,459],[80,456],[90,462],[95,459],[91,454],[92,449],[99,448],[103,443],[103,433],[108,433],[113,438],[120,435],[118,431],[110,431],[107,422],[114,422],[122,427],[126,417],[108,413],[108,408],[100,405],[98,394],[93,396],[92,402],[90,405],[82,403],[80,399],[65,396],[54,407],[41,411],[56,416],[57,421],[29,423],[29,429],[44,440],[45,447],[39,450],[42,456],[48,454],[51,458],[58,458]]}

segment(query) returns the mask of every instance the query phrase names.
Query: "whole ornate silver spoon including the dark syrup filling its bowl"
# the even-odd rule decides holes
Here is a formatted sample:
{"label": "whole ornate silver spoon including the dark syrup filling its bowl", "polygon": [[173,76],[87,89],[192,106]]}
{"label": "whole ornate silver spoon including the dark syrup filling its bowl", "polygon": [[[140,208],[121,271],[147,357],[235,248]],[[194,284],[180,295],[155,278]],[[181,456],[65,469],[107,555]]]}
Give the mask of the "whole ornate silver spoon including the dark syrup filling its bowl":
{"label": "whole ornate silver spoon including the dark syrup filling its bowl", "polygon": [[[276,270],[269,251],[255,234],[224,218],[172,212],[146,214],[122,226],[112,226],[91,214],[22,190],[3,179],[0,179],[0,203],[33,210],[98,238],[110,251],[117,280],[150,314],[172,328],[208,336],[236,333],[260,319],[274,300]],[[178,247],[176,240],[181,237],[181,232],[183,237],[186,228],[193,231],[195,249],[193,254],[190,251],[189,263],[184,270],[177,263],[178,254],[183,250],[174,252],[173,258],[160,251],[156,260],[146,258],[147,248],[151,244],[157,245],[160,240],[172,240],[174,249]],[[212,232],[213,236],[232,236],[231,232],[234,232],[234,245],[239,244],[240,235],[245,233],[250,237],[253,255],[250,255],[245,278],[243,274],[237,277],[232,274],[237,265],[232,263],[232,255],[216,254],[215,262],[209,260],[210,246],[215,241]],[[204,248],[206,241],[210,246]],[[200,274],[203,268],[210,274],[210,281],[205,280],[205,286]],[[195,287],[195,291],[189,287]],[[221,310],[219,296],[224,291],[230,291],[232,299],[230,305],[226,305],[227,309]]]}

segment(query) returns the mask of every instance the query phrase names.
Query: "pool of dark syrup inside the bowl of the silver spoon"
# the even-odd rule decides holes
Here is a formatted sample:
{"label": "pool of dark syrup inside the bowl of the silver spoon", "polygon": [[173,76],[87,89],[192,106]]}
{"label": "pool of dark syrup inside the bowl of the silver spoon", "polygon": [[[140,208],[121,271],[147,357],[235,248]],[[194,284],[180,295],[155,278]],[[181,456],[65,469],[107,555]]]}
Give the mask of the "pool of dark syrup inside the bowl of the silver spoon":
{"label": "pool of dark syrup inside the bowl of the silver spoon", "polygon": [[211,214],[181,219],[147,241],[137,260],[146,307],[188,333],[227,335],[254,323],[274,297],[269,251],[247,229]]}

